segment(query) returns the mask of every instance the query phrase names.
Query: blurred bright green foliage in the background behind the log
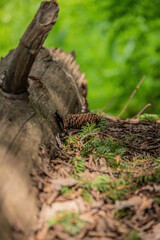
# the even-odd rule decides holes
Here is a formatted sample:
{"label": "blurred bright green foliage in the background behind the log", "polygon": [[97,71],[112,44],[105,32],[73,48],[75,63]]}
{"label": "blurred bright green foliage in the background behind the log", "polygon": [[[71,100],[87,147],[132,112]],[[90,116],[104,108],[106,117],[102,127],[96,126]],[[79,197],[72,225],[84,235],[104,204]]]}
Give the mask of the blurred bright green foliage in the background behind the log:
{"label": "blurred bright green foliage in the background behind the log", "polygon": [[[0,56],[15,48],[40,1],[0,2]],[[89,105],[117,115],[146,76],[123,117],[146,104],[160,112],[160,0],[59,0],[60,12],[45,45],[73,49],[89,83]]]}

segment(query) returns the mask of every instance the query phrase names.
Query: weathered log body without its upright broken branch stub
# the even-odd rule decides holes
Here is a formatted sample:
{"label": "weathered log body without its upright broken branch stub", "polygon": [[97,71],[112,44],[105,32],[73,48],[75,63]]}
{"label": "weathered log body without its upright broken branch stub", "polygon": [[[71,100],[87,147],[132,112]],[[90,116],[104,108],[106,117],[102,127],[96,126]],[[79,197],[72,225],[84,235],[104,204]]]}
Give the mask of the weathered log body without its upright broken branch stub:
{"label": "weathered log body without its upright broken branch stub", "polygon": [[[64,58],[69,61],[72,59],[71,54],[61,52]],[[49,50],[41,48],[28,78],[28,96],[22,94],[15,97],[0,91],[0,195],[5,196],[5,201],[0,197],[3,209],[0,226],[4,225],[1,224],[4,218],[9,226],[20,222],[16,228],[26,236],[36,209],[35,199],[29,191],[29,173],[33,162],[40,164],[38,151],[41,144],[50,146],[53,154],[55,135],[61,130],[55,113],[65,117],[69,113],[80,113],[87,109],[79,83],[84,75],[80,70],[73,73],[74,68],[78,67],[75,60],[72,59],[73,67],[69,68],[56,54],[55,57],[53,52],[51,54]],[[22,208],[27,210],[22,211]],[[0,229],[0,234],[6,234],[3,230],[4,227]],[[2,239],[5,239],[4,235]]]}

